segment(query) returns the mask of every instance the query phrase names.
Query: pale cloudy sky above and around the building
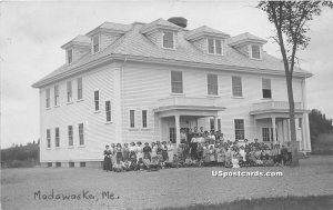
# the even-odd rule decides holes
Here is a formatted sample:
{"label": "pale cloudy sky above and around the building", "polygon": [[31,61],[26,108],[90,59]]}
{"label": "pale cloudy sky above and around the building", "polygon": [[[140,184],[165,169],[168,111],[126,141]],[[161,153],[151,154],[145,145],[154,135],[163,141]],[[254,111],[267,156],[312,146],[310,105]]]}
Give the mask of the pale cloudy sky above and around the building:
{"label": "pale cloudy sky above and around the building", "polygon": [[[281,58],[270,37],[273,26],[256,1],[34,1],[0,2],[1,148],[39,139],[39,91],[31,84],[65,62],[60,48],[104,21],[151,22],[184,17],[188,29],[206,24],[231,36],[250,32],[268,39],[264,50]],[[333,10],[311,22],[311,42],[300,51],[309,109],[333,118]]]}

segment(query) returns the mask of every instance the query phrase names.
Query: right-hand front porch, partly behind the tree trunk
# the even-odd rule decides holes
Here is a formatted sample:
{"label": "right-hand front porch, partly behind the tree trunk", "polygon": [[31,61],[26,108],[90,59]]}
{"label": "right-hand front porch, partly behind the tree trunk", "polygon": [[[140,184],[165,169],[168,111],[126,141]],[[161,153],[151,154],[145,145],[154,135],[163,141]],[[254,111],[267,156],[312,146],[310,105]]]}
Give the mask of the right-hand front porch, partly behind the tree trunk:
{"label": "right-hand front porch, partly behind the tree trunk", "polygon": [[[309,110],[295,102],[296,141],[300,151],[310,151]],[[259,141],[285,144],[291,142],[289,102],[268,101],[253,103],[250,114],[253,117],[254,136]]]}

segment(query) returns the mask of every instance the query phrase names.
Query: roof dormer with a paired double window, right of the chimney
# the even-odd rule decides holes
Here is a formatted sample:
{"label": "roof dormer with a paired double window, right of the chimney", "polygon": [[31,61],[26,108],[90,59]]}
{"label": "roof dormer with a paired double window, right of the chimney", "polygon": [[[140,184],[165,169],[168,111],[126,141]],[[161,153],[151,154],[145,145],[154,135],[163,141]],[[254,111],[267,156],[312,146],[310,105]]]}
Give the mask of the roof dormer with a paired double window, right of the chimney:
{"label": "roof dormer with a paired double window, right of the chimney", "polygon": [[193,29],[185,34],[185,39],[199,50],[208,54],[224,54],[225,39],[229,34],[206,26]]}

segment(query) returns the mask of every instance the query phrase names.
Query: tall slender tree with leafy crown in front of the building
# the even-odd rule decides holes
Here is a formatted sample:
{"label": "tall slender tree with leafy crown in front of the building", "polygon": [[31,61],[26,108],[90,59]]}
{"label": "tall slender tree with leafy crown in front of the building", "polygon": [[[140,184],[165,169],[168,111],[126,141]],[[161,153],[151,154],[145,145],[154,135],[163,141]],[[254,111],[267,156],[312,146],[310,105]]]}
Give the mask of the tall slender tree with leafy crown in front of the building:
{"label": "tall slender tree with leafy crown in front of the building", "polygon": [[266,12],[269,21],[274,24],[272,37],[280,46],[285,71],[289,100],[290,131],[292,142],[292,166],[299,166],[295,129],[295,107],[293,96],[293,71],[297,50],[303,50],[310,42],[309,21],[320,16],[324,7],[333,8],[330,1],[261,1],[258,8]]}

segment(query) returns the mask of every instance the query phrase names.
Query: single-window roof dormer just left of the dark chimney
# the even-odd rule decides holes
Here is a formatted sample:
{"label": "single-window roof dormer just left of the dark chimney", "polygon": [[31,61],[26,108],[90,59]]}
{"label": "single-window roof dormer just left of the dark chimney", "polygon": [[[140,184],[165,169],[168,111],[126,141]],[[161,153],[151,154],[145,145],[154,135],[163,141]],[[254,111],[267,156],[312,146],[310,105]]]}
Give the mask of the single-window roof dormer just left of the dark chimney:
{"label": "single-window roof dormer just left of the dark chimney", "polygon": [[162,49],[175,50],[178,46],[178,32],[183,28],[163,20],[158,19],[142,27],[141,33]]}

